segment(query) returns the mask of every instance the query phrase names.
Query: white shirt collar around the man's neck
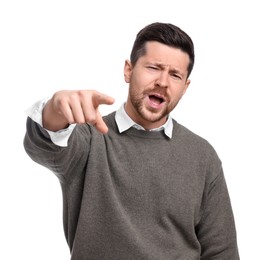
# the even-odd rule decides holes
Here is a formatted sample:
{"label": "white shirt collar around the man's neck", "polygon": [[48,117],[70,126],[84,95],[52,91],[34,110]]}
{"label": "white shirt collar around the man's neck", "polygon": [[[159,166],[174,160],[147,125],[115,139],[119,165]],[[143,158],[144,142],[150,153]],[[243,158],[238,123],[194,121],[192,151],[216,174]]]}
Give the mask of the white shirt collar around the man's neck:
{"label": "white shirt collar around the man's neck", "polygon": [[[141,125],[135,123],[126,113],[124,104],[116,111],[115,120],[119,128],[119,132],[122,133],[131,127],[138,130],[145,130]],[[171,116],[168,116],[166,123],[158,128],[150,129],[149,131],[161,131],[164,130],[165,135],[172,138],[173,123]]]}

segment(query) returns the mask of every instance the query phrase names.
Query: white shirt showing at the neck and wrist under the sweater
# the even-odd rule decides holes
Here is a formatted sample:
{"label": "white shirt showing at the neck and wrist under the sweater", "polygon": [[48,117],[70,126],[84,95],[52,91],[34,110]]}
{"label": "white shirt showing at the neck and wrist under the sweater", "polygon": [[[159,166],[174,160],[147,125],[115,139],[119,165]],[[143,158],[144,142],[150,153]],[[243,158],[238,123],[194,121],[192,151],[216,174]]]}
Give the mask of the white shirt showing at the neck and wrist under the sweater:
{"label": "white shirt showing at the neck and wrist under the sweater", "polygon": [[[43,111],[43,108],[46,105],[48,99],[49,98],[40,100],[26,110],[27,115],[33,121],[38,123],[41,127],[43,127],[42,111]],[[117,123],[117,126],[118,126],[120,133],[128,130],[131,127],[134,127],[136,129],[139,129],[139,130],[145,130],[141,125],[138,125],[137,123],[135,123],[127,115],[127,113],[124,109],[124,104],[120,107],[120,109],[118,111],[116,111],[115,120],[116,120],[116,123]],[[61,146],[61,147],[66,147],[66,146],[68,146],[69,137],[70,137],[75,126],[76,126],[76,124],[71,124],[71,125],[69,125],[68,128],[59,130],[57,132],[49,131],[47,129],[45,129],[45,130],[48,132],[48,134],[51,138],[51,141],[54,144]],[[172,118],[171,118],[171,116],[168,116],[168,119],[164,125],[162,125],[161,127],[158,127],[158,128],[151,129],[149,131],[162,131],[162,130],[164,130],[164,133],[166,134],[166,136],[171,138],[172,137],[172,129],[173,129]]]}

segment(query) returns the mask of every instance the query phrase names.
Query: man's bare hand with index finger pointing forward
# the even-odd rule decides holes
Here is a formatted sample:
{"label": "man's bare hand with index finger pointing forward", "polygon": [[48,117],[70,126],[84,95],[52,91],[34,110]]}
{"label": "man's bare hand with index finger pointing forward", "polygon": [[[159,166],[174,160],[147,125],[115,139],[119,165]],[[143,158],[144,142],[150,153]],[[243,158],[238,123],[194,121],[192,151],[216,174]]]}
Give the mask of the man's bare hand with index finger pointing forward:
{"label": "man's bare hand with index finger pointing forward", "polygon": [[99,112],[99,105],[111,105],[114,99],[96,90],[63,90],[56,92],[43,111],[43,126],[51,131],[69,124],[90,123],[101,133],[108,128]]}

